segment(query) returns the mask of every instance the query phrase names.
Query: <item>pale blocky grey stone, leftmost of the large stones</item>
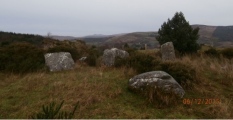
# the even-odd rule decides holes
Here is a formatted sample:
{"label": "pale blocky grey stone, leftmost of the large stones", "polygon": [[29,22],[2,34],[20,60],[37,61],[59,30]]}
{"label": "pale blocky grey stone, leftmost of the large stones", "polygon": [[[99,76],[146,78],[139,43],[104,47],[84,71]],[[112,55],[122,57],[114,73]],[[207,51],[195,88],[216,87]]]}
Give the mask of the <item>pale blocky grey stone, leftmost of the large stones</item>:
{"label": "pale blocky grey stone, leftmost of the large stones", "polygon": [[69,52],[47,53],[44,55],[45,64],[50,71],[69,70],[74,68],[74,60]]}

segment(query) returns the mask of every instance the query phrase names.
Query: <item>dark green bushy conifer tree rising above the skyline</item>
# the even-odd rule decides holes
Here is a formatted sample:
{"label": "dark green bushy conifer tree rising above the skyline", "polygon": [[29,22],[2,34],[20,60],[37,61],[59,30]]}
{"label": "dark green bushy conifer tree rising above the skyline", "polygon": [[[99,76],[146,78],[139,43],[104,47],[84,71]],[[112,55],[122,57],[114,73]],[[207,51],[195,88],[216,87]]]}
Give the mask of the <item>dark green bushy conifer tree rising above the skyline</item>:
{"label": "dark green bushy conifer tree rising above the skyline", "polygon": [[185,20],[182,12],[176,12],[174,17],[161,25],[156,39],[160,45],[173,42],[175,49],[181,54],[194,53],[199,49],[197,39],[199,28],[193,29]]}

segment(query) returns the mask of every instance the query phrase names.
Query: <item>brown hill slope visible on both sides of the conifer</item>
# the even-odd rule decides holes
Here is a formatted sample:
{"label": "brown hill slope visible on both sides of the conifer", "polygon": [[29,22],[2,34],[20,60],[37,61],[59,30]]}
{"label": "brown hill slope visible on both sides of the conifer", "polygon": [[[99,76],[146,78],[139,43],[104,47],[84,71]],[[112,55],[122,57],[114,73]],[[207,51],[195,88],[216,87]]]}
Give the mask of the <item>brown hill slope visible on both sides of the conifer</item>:
{"label": "brown hill slope visible on both sides of the conifer", "polygon": [[[233,46],[233,26],[207,26],[207,25],[192,25],[193,28],[199,27],[198,43],[208,44],[216,47]],[[157,32],[134,32],[126,33],[118,36],[107,37],[91,37],[81,38],[89,44],[105,45],[109,47],[121,47],[125,43],[140,48],[147,44],[148,48],[156,48],[159,46],[155,40]]]}

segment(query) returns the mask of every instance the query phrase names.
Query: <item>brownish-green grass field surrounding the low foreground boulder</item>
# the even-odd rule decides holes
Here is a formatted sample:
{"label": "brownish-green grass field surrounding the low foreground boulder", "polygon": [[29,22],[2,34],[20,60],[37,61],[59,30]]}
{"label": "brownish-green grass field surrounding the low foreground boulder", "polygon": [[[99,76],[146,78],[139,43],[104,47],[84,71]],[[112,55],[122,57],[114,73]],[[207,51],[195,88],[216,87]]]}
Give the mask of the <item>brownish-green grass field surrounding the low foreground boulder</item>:
{"label": "brownish-green grass field surrounding the low foreground boulder", "polygon": [[[0,118],[26,119],[42,105],[62,100],[66,111],[79,101],[74,117],[79,119],[233,118],[233,61],[207,56],[184,56],[176,61],[192,65],[198,82],[185,90],[183,99],[177,99],[178,105],[163,108],[128,90],[128,80],[136,75],[132,69],[77,63],[74,70],[63,72],[1,73]],[[184,104],[185,100],[193,102]],[[204,102],[198,104],[199,100]]]}

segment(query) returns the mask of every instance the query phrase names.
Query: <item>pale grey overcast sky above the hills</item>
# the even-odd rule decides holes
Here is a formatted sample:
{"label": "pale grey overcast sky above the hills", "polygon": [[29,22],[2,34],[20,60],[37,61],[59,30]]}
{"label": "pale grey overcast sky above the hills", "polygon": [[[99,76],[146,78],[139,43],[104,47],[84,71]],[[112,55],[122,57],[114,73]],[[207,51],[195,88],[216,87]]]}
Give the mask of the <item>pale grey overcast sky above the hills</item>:
{"label": "pale grey overcast sky above the hills", "polygon": [[190,24],[233,25],[233,0],[1,0],[0,31],[76,37],[158,31],[179,11]]}

